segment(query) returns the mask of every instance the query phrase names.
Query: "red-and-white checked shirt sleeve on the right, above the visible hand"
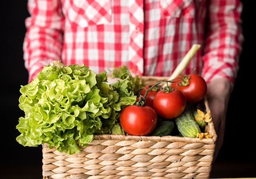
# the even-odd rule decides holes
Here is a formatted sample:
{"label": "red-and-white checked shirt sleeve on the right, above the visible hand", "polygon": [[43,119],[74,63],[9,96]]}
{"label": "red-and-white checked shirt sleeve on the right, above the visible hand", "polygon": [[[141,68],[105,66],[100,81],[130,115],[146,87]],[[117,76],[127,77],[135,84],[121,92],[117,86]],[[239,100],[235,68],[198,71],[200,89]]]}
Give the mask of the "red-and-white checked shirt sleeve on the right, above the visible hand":
{"label": "red-and-white checked shirt sleeve on the right, above the visible hand", "polygon": [[239,69],[243,34],[238,0],[211,0],[207,19],[202,76],[208,82],[227,78],[233,85]]}

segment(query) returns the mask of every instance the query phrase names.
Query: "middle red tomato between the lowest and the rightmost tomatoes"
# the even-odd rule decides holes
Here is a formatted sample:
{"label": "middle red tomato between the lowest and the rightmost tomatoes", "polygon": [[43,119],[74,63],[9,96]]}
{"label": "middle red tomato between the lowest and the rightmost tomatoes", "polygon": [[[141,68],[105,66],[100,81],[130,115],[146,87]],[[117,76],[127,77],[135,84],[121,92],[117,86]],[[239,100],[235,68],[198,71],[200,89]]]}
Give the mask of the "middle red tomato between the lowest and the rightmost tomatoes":
{"label": "middle red tomato between the lowest and the rightmost tomatoes", "polygon": [[171,92],[159,91],[153,100],[153,107],[159,116],[172,119],[184,111],[186,98],[178,89],[173,89]]}

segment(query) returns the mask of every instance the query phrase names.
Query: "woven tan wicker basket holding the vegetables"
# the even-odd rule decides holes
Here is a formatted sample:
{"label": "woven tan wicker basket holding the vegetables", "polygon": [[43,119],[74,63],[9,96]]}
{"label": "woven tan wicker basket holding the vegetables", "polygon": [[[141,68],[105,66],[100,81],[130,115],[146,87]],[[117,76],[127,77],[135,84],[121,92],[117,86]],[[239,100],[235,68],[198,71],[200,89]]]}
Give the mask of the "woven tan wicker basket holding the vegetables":
{"label": "woven tan wicker basket holding the vegetables", "polygon": [[[202,102],[208,111],[207,99]],[[43,144],[43,179],[207,179],[217,140],[213,122],[205,132],[213,137],[94,135],[72,155]]]}

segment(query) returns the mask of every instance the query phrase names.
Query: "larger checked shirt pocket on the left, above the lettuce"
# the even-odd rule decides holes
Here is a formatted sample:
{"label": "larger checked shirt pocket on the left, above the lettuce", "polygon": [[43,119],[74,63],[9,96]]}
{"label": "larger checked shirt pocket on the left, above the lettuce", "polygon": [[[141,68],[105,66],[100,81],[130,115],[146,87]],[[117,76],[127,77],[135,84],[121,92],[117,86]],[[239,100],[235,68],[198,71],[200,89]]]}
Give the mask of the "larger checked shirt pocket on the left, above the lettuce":
{"label": "larger checked shirt pocket on the left, above the lettuce", "polygon": [[111,21],[111,0],[63,0],[63,12],[70,25],[88,27]]}

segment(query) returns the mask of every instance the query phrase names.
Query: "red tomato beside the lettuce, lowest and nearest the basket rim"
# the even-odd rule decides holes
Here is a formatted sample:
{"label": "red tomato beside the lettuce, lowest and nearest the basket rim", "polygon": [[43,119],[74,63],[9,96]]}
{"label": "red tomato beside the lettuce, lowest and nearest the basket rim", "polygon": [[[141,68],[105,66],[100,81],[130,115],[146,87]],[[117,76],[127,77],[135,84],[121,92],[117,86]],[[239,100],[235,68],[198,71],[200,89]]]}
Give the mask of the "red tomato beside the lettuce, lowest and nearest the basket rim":
{"label": "red tomato beside the lettuce, lowest and nearest the basket rim", "polygon": [[157,125],[157,113],[152,107],[128,105],[120,114],[120,124],[130,135],[145,136]]}

